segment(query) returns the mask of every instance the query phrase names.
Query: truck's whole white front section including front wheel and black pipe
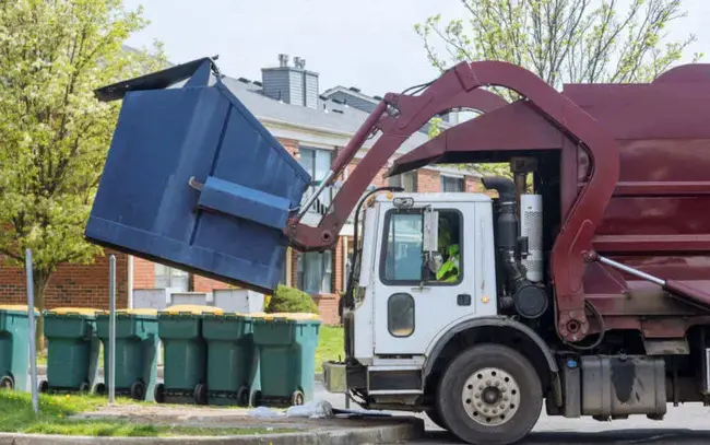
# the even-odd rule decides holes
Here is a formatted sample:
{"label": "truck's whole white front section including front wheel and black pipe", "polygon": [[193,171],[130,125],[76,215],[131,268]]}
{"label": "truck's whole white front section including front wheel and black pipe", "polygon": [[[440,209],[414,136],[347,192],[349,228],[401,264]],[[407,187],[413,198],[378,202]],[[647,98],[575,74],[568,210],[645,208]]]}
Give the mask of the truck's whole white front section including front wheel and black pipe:
{"label": "truck's whole white front section including front wheel and black pipe", "polygon": [[526,257],[529,249],[519,243],[528,236],[520,233],[514,194],[502,184],[505,199],[497,200],[387,192],[364,201],[342,312],[346,360],[323,363],[329,391],[370,409],[425,411],[466,440],[529,431],[548,382],[516,349],[535,351],[543,370],[556,364],[530,327],[506,315],[514,306],[539,317],[547,296],[521,266],[520,253]]}

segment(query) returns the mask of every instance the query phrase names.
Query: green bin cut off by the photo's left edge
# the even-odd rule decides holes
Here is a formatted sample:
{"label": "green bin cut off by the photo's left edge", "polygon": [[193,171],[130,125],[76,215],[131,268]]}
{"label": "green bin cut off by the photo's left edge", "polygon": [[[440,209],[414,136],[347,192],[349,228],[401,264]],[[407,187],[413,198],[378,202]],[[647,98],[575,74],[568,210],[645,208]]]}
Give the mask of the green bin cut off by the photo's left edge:
{"label": "green bin cut off by the photo's left edge", "polygon": [[[35,316],[39,313],[35,309]],[[0,388],[26,391],[29,367],[27,305],[0,305]],[[34,335],[34,333],[32,333]]]}

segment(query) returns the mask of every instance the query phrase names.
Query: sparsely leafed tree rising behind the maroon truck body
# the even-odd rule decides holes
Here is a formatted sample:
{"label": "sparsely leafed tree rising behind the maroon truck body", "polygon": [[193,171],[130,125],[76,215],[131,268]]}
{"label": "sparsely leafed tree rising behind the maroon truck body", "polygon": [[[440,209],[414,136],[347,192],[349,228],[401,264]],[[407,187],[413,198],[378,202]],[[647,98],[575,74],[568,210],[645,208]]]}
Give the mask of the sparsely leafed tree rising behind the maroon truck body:
{"label": "sparsely leafed tree rising behind the maroon truck body", "polygon": [[[649,82],[696,40],[668,42],[667,26],[686,13],[681,0],[462,0],[464,19],[441,15],[416,24],[431,65],[500,60],[524,67],[560,89],[564,83]],[[443,55],[441,55],[443,51]],[[693,61],[701,58],[695,54]],[[496,90],[508,99],[509,91]],[[478,166],[500,173],[500,165]]]}

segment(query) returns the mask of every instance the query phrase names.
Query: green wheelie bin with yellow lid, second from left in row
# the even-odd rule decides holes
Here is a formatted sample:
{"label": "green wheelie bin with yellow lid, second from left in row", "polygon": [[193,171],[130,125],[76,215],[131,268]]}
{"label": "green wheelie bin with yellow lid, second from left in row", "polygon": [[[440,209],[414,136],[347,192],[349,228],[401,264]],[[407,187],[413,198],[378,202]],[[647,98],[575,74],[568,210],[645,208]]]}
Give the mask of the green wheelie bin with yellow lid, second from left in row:
{"label": "green wheelie bin with yellow lid, second from left in row", "polygon": [[39,384],[40,393],[92,390],[98,377],[98,312],[88,307],[45,311],[47,379]]}

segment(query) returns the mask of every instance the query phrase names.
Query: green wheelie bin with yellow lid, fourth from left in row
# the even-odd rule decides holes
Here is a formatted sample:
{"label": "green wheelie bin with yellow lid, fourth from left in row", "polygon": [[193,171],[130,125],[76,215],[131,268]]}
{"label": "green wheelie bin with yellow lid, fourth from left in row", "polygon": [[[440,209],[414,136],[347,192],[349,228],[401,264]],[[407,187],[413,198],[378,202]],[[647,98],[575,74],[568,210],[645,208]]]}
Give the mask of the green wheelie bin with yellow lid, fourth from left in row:
{"label": "green wheelie bin with yellow lid, fourth from left in row", "polygon": [[202,338],[204,314],[222,315],[213,306],[175,305],[157,315],[158,337],[163,342],[163,383],[155,386],[158,403],[208,402],[208,348]]}

